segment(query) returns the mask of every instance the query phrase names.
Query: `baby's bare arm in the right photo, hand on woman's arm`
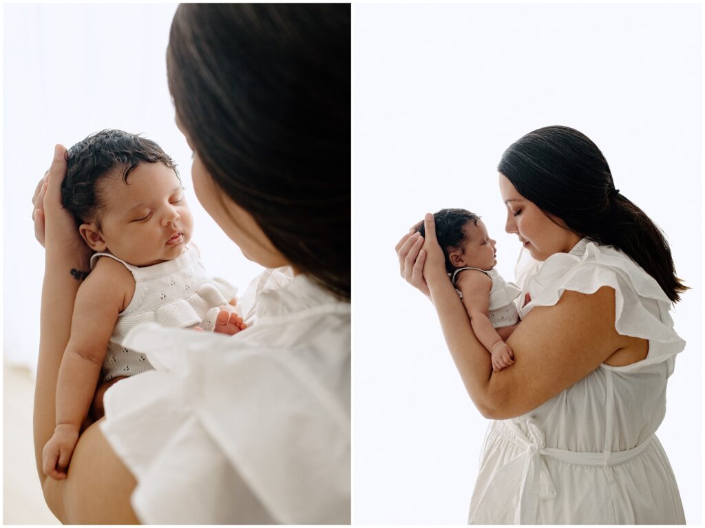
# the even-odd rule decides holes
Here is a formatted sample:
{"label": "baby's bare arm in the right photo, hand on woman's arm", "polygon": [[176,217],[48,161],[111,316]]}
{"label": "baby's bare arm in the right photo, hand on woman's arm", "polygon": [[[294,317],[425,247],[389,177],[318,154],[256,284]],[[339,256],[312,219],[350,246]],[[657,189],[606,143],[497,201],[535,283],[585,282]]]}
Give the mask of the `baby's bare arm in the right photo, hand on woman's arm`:
{"label": "baby's bare arm in the right photo, hand on woman's arm", "polygon": [[470,316],[472,331],[492,356],[494,372],[513,364],[512,349],[489,321],[492,279],[481,271],[465,270],[460,272],[457,286],[462,291],[462,303]]}

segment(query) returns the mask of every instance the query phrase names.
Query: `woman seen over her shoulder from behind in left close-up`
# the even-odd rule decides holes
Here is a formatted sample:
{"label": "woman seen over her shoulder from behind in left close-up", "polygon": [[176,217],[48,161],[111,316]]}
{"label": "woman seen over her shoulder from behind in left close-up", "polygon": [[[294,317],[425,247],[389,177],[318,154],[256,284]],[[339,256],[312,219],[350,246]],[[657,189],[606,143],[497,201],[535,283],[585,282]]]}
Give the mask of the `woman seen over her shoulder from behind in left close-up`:
{"label": "woman seen over her shoulder from behind in left close-up", "polygon": [[[66,479],[42,474],[90,252],[61,209],[65,152],[33,199],[46,247],[35,393],[44,496],[82,524],[350,521],[350,6],[183,4],[168,80],[197,198],[268,271],[238,338],[152,326],[159,365],[105,394]],[[74,274],[71,275],[70,271]]]}

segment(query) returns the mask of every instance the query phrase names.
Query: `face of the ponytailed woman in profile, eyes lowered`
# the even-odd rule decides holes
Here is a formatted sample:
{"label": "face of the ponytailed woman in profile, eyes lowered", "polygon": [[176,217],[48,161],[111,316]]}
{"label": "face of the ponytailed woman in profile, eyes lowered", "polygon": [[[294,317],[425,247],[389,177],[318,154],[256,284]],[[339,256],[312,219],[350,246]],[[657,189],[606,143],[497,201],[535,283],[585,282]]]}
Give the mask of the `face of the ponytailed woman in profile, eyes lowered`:
{"label": "face of the ponytailed woman in profile, eyes lowered", "polygon": [[[520,195],[514,185],[500,173],[499,192],[507,206],[505,231],[515,233],[531,256],[536,260],[546,260],[554,253],[568,253],[580,242],[580,236],[553,221],[534,202]],[[558,223],[556,223],[558,222]]]}

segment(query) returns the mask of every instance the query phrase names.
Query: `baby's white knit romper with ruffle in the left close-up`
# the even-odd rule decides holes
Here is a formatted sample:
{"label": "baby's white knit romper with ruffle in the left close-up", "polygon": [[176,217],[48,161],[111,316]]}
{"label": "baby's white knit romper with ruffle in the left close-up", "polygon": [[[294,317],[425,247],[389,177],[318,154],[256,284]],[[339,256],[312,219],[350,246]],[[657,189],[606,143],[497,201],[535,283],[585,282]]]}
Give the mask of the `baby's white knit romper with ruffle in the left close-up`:
{"label": "baby's white knit romper with ruffle in the left close-up", "polygon": [[223,278],[207,274],[195,245],[189,244],[176,259],[154,266],[133,266],[108,252],[91,257],[91,269],[100,257],[121,262],[135,278],[135,295],[118,315],[103,361],[103,381],[117,376],[133,376],[152,369],[147,358],[122,345],[128,331],[138,324],[154,321],[163,326],[185,328],[215,326],[219,307],[235,297],[238,288]]}

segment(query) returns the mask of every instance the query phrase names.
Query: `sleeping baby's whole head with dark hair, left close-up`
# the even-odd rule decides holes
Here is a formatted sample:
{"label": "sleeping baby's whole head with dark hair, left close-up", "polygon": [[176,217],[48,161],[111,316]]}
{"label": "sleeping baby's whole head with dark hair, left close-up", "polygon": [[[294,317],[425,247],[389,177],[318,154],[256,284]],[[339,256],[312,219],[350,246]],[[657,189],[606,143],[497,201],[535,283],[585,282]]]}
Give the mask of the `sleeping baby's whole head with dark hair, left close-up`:
{"label": "sleeping baby's whole head with dark hair, left close-up", "polygon": [[176,164],[157,143],[122,130],[68,150],[61,203],[92,250],[135,266],[175,259],[193,232]]}

